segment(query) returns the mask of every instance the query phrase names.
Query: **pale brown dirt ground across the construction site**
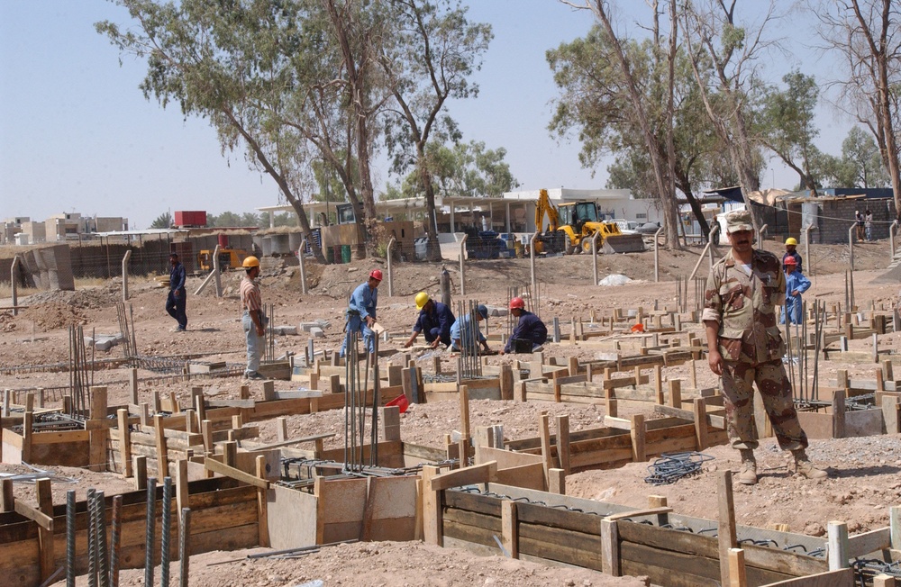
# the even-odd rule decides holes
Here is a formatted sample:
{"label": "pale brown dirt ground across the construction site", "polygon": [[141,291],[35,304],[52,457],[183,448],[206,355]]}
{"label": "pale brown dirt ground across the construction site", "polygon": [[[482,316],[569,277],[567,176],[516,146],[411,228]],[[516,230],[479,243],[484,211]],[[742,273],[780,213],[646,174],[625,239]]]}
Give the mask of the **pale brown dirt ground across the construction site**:
{"label": "pale brown dirt ground across the construction site", "polygon": [[[768,241],[767,248],[778,251],[778,243]],[[724,249],[721,249],[721,253]],[[677,302],[677,276],[686,277],[698,261],[700,248],[687,251],[660,251],[660,283],[653,281],[653,253],[598,257],[600,278],[611,274],[627,275],[634,281],[616,287],[593,284],[590,256],[539,259],[536,273],[540,282],[539,309],[546,321],[560,318],[565,327],[573,317],[587,319],[591,312],[597,319],[609,316],[614,308],[651,310],[674,306]],[[803,253],[803,251],[802,251]],[[848,265],[847,246],[819,245],[812,247],[812,258],[805,258],[806,274],[813,286],[805,299],[841,301],[845,295],[845,274]],[[0,256],[4,252],[0,249]],[[869,308],[869,301],[877,306],[897,307],[899,283],[872,284],[886,271],[889,262],[888,243],[861,243],[854,249],[856,271],[853,274],[855,300],[860,308]],[[459,297],[460,274],[456,262],[444,264],[451,272],[455,301]],[[297,325],[304,321],[328,321],[325,337],[316,339],[317,349],[336,348],[341,340],[342,314],[346,296],[364,281],[370,268],[386,268],[380,260],[354,261],[348,265],[317,266],[309,263],[307,275],[311,289],[301,294],[299,271],[278,260],[266,259],[263,264],[261,288],[263,301],[272,304],[274,323]],[[379,288],[378,318],[391,332],[409,332],[414,320],[413,296],[420,290],[438,294],[441,264],[396,264],[393,279],[394,296],[388,296],[387,280]],[[699,276],[706,275],[706,261],[701,261]],[[225,277],[225,295],[217,299],[210,291],[193,295],[201,283],[200,277],[188,279],[188,331],[174,332],[176,322],[163,310],[166,292],[150,281],[130,282],[133,330],[139,354],[142,356],[200,357],[201,360],[226,361],[241,366],[244,360],[244,341],[239,321],[237,284],[239,275]],[[528,259],[469,262],[466,270],[466,298],[489,305],[505,306],[508,288],[524,286],[530,281]],[[690,289],[690,288],[689,288]],[[3,292],[3,290],[0,290]],[[4,294],[0,294],[4,295]],[[28,390],[39,387],[48,391],[51,405],[59,402],[62,389],[68,386],[69,375],[61,366],[68,362],[68,326],[78,325],[86,336],[96,332],[114,334],[119,330],[114,303],[121,299],[121,283],[76,292],[41,292],[21,297],[26,306],[18,316],[0,311],[0,388]],[[689,291],[689,305],[694,305],[693,291]],[[10,300],[0,299],[0,306]],[[488,330],[505,331],[507,318],[491,318]],[[688,329],[701,331],[699,325]],[[399,339],[396,339],[399,340]],[[276,341],[276,356],[291,351],[303,355],[306,333],[281,336]],[[851,341],[851,350],[871,348],[870,340]],[[889,334],[879,339],[880,348],[897,349],[901,335]],[[90,351],[89,351],[90,352]],[[576,356],[594,358],[595,351],[579,346],[545,346],[550,357]],[[96,352],[96,358],[123,357],[123,348]],[[383,359],[386,364],[390,358]],[[514,358],[490,357],[489,363],[511,362]],[[431,372],[431,360],[423,361],[426,373]],[[704,361],[697,363],[700,386],[713,386],[715,377]],[[450,357],[444,357],[444,371],[453,371]],[[849,370],[851,377],[873,378],[873,365],[848,365],[821,362],[821,381],[834,377],[836,369]],[[142,380],[159,377],[159,373],[143,371]],[[687,380],[688,366],[666,367],[665,378]],[[127,374],[123,369],[99,369],[95,384],[105,384],[111,404],[128,401]],[[141,384],[141,400],[150,401],[153,391],[175,392],[187,403],[190,388],[205,387],[205,393],[216,399],[236,398],[241,384],[238,377],[184,382],[177,377]],[[297,384],[277,382],[277,390],[296,389]],[[261,384],[250,382],[251,396],[262,396]],[[588,429],[603,425],[604,406],[584,404],[518,403],[471,401],[470,419],[473,429],[488,424],[502,424],[505,438],[525,438],[538,435],[538,421],[542,411],[553,415],[569,414],[570,430]],[[326,411],[307,416],[288,418],[289,437],[333,432],[326,447],[340,447],[343,443],[343,412]],[[276,438],[274,422],[260,422],[260,440]],[[460,429],[457,402],[438,402],[414,405],[402,417],[401,438],[405,442],[432,447],[443,446],[445,434]],[[901,438],[888,435],[870,438],[815,440],[809,449],[815,462],[827,466],[829,479],[814,483],[791,474],[788,460],[771,439],[761,442],[758,458],[761,467],[760,483],[753,487],[736,484],[734,499],[740,524],[767,527],[776,523],[788,524],[791,531],[823,536],[829,520],[841,519],[849,523],[852,533],[887,525],[887,509],[901,497]],[[648,495],[664,495],[669,505],[679,513],[712,518],[710,500],[716,491],[716,471],[738,469],[736,451],[728,447],[712,447],[705,454],[713,456],[704,470],[678,483],[653,486],[644,482],[646,464],[627,465],[620,469],[588,471],[567,478],[567,492],[578,497],[613,501],[633,506],[647,504]],[[54,502],[65,500],[68,489],[76,489],[78,499],[84,499],[88,487],[105,490],[107,495],[127,491],[131,481],[115,474],[101,474],[68,469],[41,467],[73,483],[60,480],[53,483]],[[0,474],[28,473],[22,465],[0,465]],[[33,500],[32,485],[16,483],[17,499]],[[258,551],[216,552],[191,559],[191,584],[262,586],[301,585],[322,580],[326,585],[632,585],[644,584],[633,578],[611,578],[584,569],[546,567],[503,557],[479,558],[452,549],[436,549],[418,543],[374,543],[324,547],[320,552],[297,560],[279,558],[245,559]],[[241,559],[228,564],[214,564]],[[159,573],[159,570],[158,570]],[[123,585],[142,582],[141,571],[123,573]],[[84,580],[84,577],[81,578]],[[83,584],[79,582],[78,584]],[[86,582],[84,583],[86,584]]]}

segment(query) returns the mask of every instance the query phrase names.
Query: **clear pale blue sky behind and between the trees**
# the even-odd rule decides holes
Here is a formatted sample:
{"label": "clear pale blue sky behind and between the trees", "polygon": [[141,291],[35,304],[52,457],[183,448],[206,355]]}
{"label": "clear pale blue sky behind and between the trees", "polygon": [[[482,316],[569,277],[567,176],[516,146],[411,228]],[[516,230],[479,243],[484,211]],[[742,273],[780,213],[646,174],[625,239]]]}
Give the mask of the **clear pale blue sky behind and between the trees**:
{"label": "clear pale blue sky behind and between the trees", "polygon": [[[605,166],[592,178],[579,166],[578,144],[560,144],[547,131],[557,89],[544,53],[584,35],[592,15],[555,0],[469,5],[470,18],[491,23],[495,38],[476,77],[478,99],[451,104],[464,140],[507,149],[523,189],[603,187]],[[620,30],[636,31],[633,16],[622,15]],[[241,153],[223,156],[205,121],[144,99],[145,64],[123,58],[120,67],[118,51],[94,30],[107,19],[125,24],[128,14],[105,0],[0,0],[0,220],[81,212],[147,228],[167,211],[251,212],[278,203],[274,182],[249,170]],[[828,69],[800,43],[793,50],[794,59],[771,59],[768,77],[778,80],[796,62],[806,73]],[[820,111],[820,146],[838,154],[850,122],[828,106]],[[776,166],[763,186],[774,178],[780,187],[797,181]],[[388,179],[383,165],[377,189]]]}

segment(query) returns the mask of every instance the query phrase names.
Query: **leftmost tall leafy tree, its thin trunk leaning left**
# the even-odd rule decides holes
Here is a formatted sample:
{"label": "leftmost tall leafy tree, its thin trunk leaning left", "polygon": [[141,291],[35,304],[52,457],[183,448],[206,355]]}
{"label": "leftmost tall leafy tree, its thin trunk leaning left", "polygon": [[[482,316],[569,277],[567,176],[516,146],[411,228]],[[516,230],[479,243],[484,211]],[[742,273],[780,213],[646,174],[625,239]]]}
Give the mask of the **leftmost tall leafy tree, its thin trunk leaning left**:
{"label": "leftmost tall leafy tree, its thin trunk leaning left", "polygon": [[[301,11],[264,0],[228,6],[205,0],[116,3],[128,9],[139,30],[123,32],[108,21],[96,23],[96,29],[123,54],[147,59],[144,95],[163,107],[175,101],[185,115],[207,118],[223,150],[247,149],[251,165],[275,180],[309,234],[296,193],[305,145],[291,140],[273,115],[284,104],[285,88],[296,84],[296,71],[279,47],[301,45]],[[314,253],[324,263],[322,251],[314,248]]]}

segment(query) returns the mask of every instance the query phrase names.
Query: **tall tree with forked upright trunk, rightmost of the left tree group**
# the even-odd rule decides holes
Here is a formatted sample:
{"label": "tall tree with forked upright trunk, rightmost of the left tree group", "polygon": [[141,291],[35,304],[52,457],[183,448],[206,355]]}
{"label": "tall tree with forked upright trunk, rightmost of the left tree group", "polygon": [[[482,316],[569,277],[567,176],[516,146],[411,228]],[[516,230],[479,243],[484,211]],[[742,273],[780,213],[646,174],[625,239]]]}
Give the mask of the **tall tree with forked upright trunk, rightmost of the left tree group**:
{"label": "tall tree with forked upright trunk, rightmost of the left tree group", "polygon": [[412,165],[419,174],[425,194],[426,257],[439,260],[434,185],[426,149],[436,133],[459,138],[456,124],[443,113],[448,100],[478,95],[478,86],[469,77],[481,68],[492,38],[491,26],[470,23],[467,8],[454,0],[391,0],[387,7],[397,24],[379,61],[394,97],[394,115],[387,119],[388,151],[396,172]]}

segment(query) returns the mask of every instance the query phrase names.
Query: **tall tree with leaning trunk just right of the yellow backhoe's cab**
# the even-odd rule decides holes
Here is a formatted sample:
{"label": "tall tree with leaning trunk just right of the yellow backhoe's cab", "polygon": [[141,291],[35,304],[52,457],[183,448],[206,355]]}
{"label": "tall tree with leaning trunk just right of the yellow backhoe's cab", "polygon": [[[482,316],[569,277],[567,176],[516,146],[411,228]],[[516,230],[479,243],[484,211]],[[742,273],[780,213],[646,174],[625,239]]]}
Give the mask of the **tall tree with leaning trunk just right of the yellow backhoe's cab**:
{"label": "tall tree with leaning trunk just right of the yellow backhoe's cab", "polygon": [[[631,127],[641,137],[649,156],[656,193],[659,194],[667,225],[667,246],[678,248],[672,134],[675,68],[670,67],[670,62],[677,59],[674,38],[677,30],[670,26],[669,36],[660,33],[660,9],[658,3],[653,3],[652,47],[650,51],[642,51],[639,43],[621,40],[616,35],[611,23],[610,6],[604,0],[584,0],[582,3],[560,1],[590,10],[595,14],[598,26],[589,32],[590,39],[574,41],[569,47],[561,46],[560,52],[548,52],[551,68],[559,68],[554,77],[558,86],[565,88],[563,94],[585,98],[575,102],[561,98],[551,129],[563,131],[571,121],[581,124],[584,119],[578,121],[581,114],[578,109],[590,107],[590,113],[597,116],[591,122],[592,132],[599,133],[600,138],[589,147],[590,153],[590,149],[604,148],[606,141],[617,133],[622,135],[623,128]],[[675,2],[669,3],[669,10],[675,11]],[[590,53],[601,60],[592,63],[592,59],[586,59]],[[650,59],[646,59],[648,57]],[[566,59],[571,60],[567,62]],[[578,86],[581,91],[574,94],[569,91],[569,85]],[[652,96],[651,100],[649,96]],[[590,116],[590,113],[584,114]],[[572,117],[573,114],[576,116]],[[604,119],[618,126],[611,126],[608,130]],[[585,152],[583,143],[583,154]],[[583,165],[585,162],[583,159]]]}

